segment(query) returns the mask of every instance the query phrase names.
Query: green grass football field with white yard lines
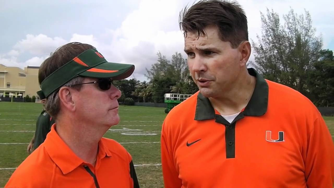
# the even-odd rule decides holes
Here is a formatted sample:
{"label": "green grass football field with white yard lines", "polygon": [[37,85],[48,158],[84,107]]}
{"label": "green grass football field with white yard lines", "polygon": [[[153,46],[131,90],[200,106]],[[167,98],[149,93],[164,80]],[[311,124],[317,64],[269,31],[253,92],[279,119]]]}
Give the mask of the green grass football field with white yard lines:
{"label": "green grass football field with white yard lines", "polygon": [[[26,157],[26,148],[34,134],[36,119],[42,110],[39,103],[0,102],[0,187]],[[121,122],[105,134],[123,143],[136,165],[143,188],[163,187],[160,165],[160,131],[166,116],[164,108],[120,106]],[[324,117],[334,135],[334,117]],[[152,135],[124,135],[141,133]]]}

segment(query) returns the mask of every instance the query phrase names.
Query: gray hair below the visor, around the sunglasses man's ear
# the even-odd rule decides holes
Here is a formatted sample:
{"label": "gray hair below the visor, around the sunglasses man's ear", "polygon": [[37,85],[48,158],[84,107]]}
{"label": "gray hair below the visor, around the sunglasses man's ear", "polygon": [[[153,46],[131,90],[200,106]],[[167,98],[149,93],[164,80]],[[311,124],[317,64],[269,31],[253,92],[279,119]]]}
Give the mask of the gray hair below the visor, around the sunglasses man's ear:
{"label": "gray hair below the visor, around the sunglasses man's ear", "polygon": [[[62,85],[61,87],[73,87],[74,89],[80,91],[81,89],[81,85],[77,85],[77,86],[73,86],[75,84],[81,84],[83,81],[83,77],[81,76],[78,76],[78,77],[75,77],[73,78],[72,80],[66,82],[64,85]],[[47,100],[46,100],[46,103],[45,103],[45,110],[47,111],[47,113],[50,114],[50,116],[53,118],[53,119],[57,119],[57,115],[60,111],[60,99],[59,99],[59,90],[55,90],[54,92],[52,92],[48,97],[47,97]]]}

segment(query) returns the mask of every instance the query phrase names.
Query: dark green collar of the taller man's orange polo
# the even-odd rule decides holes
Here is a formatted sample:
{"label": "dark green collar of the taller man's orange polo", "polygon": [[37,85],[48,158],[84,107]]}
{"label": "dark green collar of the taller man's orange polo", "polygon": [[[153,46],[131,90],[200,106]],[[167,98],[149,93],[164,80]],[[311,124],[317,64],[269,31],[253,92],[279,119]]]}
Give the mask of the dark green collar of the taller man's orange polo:
{"label": "dark green collar of the taller man's orange polo", "polygon": [[[241,114],[246,116],[261,116],[267,112],[268,107],[268,84],[266,80],[253,68],[248,68],[248,73],[256,77],[256,84],[251,100]],[[216,118],[215,110],[210,100],[198,93],[195,120]]]}

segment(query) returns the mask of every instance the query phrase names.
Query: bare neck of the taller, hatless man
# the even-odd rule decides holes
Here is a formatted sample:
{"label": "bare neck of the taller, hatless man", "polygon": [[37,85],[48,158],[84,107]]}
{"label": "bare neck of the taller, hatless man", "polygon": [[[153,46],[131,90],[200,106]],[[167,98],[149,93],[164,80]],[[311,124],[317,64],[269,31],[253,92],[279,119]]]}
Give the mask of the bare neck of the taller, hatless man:
{"label": "bare neck of the taller, hatless man", "polygon": [[[246,70],[247,71],[247,70]],[[254,92],[256,78],[248,72],[239,77],[233,83],[231,89],[224,90],[218,97],[210,97],[209,100],[221,115],[231,115],[240,112],[247,106]]]}

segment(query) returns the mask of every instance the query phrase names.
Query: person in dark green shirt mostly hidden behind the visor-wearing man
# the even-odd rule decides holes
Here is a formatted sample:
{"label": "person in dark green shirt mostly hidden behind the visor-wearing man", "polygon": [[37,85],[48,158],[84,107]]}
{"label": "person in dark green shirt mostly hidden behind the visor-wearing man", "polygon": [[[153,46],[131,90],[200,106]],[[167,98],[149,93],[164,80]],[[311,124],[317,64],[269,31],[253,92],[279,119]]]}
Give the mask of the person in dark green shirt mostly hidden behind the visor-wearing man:
{"label": "person in dark green shirt mostly hidden behind the visor-wearing man", "polygon": [[44,142],[47,133],[49,133],[51,130],[51,125],[55,123],[54,119],[45,111],[44,106],[46,103],[46,98],[42,96],[42,91],[38,91],[37,95],[39,96],[40,102],[43,104],[43,110],[38,116],[35,133],[31,138],[30,143],[28,144],[28,154],[30,154],[30,152],[38,148],[38,146]]}

